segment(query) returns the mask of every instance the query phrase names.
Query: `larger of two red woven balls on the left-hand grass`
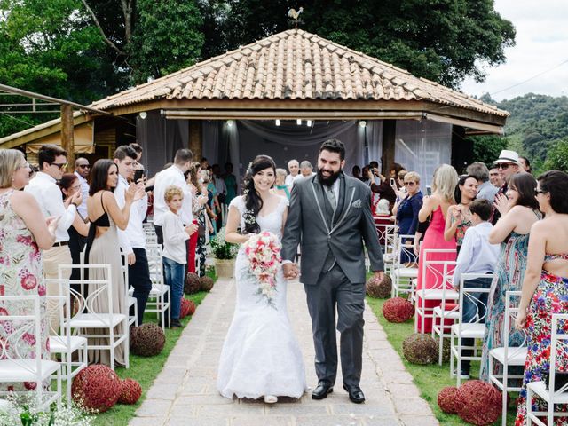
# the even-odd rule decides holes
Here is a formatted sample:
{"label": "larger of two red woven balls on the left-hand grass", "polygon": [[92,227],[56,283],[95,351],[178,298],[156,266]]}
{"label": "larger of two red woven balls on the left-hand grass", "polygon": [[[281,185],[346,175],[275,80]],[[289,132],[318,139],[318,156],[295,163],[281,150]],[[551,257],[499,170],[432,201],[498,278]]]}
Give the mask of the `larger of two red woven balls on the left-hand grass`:
{"label": "larger of two red woven balls on the left-hand grass", "polygon": [[116,404],[121,394],[121,379],[112,369],[102,365],[83,368],[71,386],[71,395],[78,406],[105,412]]}

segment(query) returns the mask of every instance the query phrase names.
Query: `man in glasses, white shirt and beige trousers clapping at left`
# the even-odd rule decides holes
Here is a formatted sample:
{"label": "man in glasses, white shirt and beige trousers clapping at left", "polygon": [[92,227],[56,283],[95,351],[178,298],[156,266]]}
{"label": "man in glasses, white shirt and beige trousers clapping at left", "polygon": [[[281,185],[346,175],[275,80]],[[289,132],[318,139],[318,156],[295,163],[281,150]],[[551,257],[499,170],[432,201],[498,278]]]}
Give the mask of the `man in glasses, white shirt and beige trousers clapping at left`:
{"label": "man in glasses, white shirt and beige trousers clapping at left", "polygon": [[[24,191],[31,193],[37,200],[44,217],[59,217],[59,224],[55,230],[55,243],[49,250],[43,250],[43,275],[47,279],[59,278],[59,264],[72,264],[71,251],[69,250],[69,233],[67,229],[73,224],[77,207],[81,205],[83,197],[81,193],[75,193],[72,197],[63,201],[63,195],[57,185],[57,181],[63,176],[67,167],[67,152],[57,145],[43,145],[38,153],[39,169],[36,177],[29,181]],[[68,279],[71,271],[66,272]],[[47,296],[59,296],[57,284],[47,284]],[[54,304],[57,304],[55,302]],[[48,305],[53,311],[54,304]],[[59,328],[59,312],[53,312],[50,316],[51,334],[57,333]]]}

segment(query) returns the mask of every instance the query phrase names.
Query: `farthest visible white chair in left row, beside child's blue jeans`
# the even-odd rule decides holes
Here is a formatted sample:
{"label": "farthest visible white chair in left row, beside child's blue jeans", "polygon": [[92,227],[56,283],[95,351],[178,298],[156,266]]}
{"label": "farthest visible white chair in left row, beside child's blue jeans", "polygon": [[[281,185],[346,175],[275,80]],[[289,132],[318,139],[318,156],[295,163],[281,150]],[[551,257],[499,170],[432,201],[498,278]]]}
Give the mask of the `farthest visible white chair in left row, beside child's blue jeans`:
{"label": "farthest visible white chair in left row, beside child's blue jeans", "polygon": [[162,329],[165,329],[165,314],[170,308],[170,286],[164,283],[162,246],[159,244],[147,244],[146,256],[152,280],[152,290],[148,296],[146,312],[155,313],[162,320]]}

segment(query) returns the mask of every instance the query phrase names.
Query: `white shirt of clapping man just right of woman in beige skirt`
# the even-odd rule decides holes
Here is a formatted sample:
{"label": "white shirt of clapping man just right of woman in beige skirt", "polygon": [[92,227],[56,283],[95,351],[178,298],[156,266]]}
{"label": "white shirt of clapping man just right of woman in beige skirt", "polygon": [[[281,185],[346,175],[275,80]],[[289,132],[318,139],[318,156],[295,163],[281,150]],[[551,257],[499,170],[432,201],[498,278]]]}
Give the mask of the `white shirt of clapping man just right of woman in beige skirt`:
{"label": "white shirt of clapping man just right of woman in beige skirt", "polygon": [[[118,207],[121,209],[126,204],[126,199],[124,198],[124,192],[128,189],[128,182],[122,176],[118,177],[118,185],[114,189],[114,198]],[[148,196],[145,194],[144,198],[135,201],[130,206],[130,217],[128,218],[128,225],[126,229],[116,229],[118,233],[118,241],[121,244],[122,252],[130,255],[134,251],[132,248],[146,248],[146,235],[144,234],[144,228],[142,226],[142,221],[146,217],[146,208],[148,205]]]}

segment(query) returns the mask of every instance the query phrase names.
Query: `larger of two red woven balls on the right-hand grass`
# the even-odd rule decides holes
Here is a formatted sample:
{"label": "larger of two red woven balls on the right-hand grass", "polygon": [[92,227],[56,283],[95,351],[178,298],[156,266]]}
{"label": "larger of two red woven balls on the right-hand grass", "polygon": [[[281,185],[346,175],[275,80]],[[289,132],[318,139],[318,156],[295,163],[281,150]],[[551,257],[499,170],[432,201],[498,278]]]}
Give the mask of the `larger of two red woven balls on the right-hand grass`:
{"label": "larger of two red woven balls on the right-hand grass", "polygon": [[463,421],[486,426],[501,416],[501,392],[491,384],[469,380],[455,393],[455,407]]}

